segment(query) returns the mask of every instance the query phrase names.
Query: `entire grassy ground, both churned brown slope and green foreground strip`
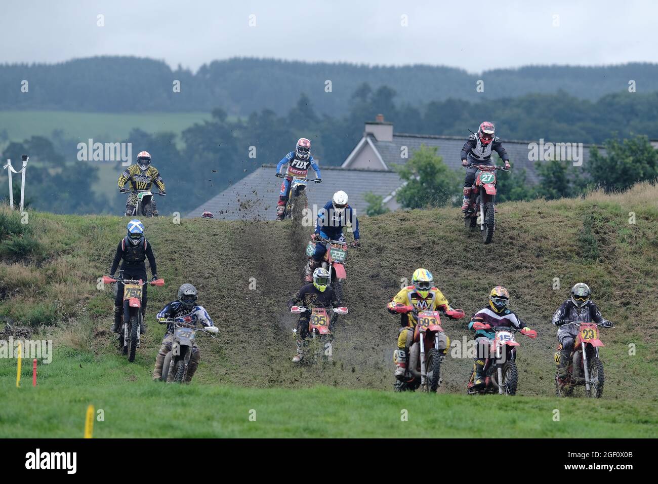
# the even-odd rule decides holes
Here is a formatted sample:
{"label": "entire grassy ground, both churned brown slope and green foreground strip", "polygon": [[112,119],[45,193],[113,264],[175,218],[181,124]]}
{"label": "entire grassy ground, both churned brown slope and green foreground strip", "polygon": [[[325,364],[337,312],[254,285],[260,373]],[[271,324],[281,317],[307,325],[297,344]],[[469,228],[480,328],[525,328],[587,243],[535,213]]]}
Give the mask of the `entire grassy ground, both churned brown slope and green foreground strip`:
{"label": "entire grassy ground, both churned brown slope and green foreground strip", "polygon": [[[629,213],[635,223],[629,223]],[[20,226],[0,207],[3,215],[6,225]],[[364,248],[347,257],[344,302],[350,313],[336,328],[334,361],[295,366],[295,319],[286,300],[301,285],[310,229],[294,230],[289,222],[147,220],[166,285],[149,289],[149,333],[137,362],[129,365],[108,342],[111,291],[97,288],[124,219],[30,213],[29,233],[3,236],[0,230],[0,318],[32,327],[32,338],[53,339],[56,352],[53,363],[41,365],[36,391],[29,364],[24,388],[16,391],[15,361],[0,360],[6,396],[0,435],[78,436],[91,403],[107,416],[125,413],[130,404],[147,409],[143,425],[107,417],[98,437],[155,435],[162,416],[175,416],[170,427],[182,429],[187,404],[194,413],[185,435],[199,436],[395,437],[399,425],[409,424],[405,435],[474,437],[485,427],[473,422],[501,418],[509,420],[509,436],[655,437],[658,188],[643,184],[613,196],[502,203],[498,224],[493,244],[483,246],[478,234],[465,232],[454,208],[364,217]],[[511,307],[539,333],[535,340],[519,339],[516,397],[467,398],[467,358],[447,358],[438,395],[392,392],[399,322],[385,306],[416,267],[430,269],[453,307],[467,315],[486,304],[492,286],[510,290]],[[202,362],[190,387],[158,387],[148,379],[164,329],[153,316],[188,281],[199,289],[199,302],[220,333],[199,342]],[[252,281],[255,289],[249,288]],[[617,323],[601,332],[606,379],[599,401],[553,398],[556,341],[550,319],[576,281],[592,286],[603,315]],[[466,323],[445,321],[443,328],[459,342],[472,338]],[[247,419],[251,408],[257,425]],[[409,410],[406,423],[399,419],[403,408]],[[304,409],[303,417],[297,409]],[[559,422],[552,419],[555,409],[561,411]],[[584,418],[588,425],[579,426]]]}

